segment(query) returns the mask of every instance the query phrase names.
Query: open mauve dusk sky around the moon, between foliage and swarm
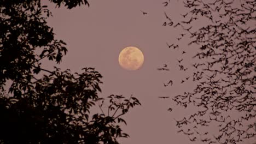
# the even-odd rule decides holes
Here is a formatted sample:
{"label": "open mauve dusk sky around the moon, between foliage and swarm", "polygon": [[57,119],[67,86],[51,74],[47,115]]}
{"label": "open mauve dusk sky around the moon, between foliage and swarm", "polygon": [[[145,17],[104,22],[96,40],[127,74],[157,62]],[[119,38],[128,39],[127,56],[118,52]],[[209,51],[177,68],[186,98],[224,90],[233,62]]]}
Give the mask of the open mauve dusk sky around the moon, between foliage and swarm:
{"label": "open mauve dusk sky around the moon, between foliage and swarm", "polygon": [[[166,21],[164,12],[173,22],[181,21],[181,14],[187,13],[182,1],[174,0],[167,7],[162,1],[153,0],[89,3],[89,8],[83,5],[72,10],[55,8],[46,1],[43,3],[53,13],[48,22],[54,28],[55,37],[65,41],[68,47],[67,55],[57,67],[71,69],[73,73],[84,67],[93,67],[103,76],[101,97],[122,94],[139,99],[142,106],[136,106],[124,116],[127,125],[122,125],[122,129],[130,137],[121,139],[120,143],[190,143],[187,135],[177,133],[174,118],[181,119],[195,110],[184,110],[171,99],[158,98],[172,98],[195,88],[191,75],[196,49],[188,46],[189,35],[178,41],[176,38],[184,33],[182,28],[162,26]],[[147,14],[143,15],[142,11]],[[193,23],[193,29],[207,22],[200,19]],[[178,44],[179,48],[168,49],[166,43]],[[143,52],[144,63],[140,69],[129,71],[120,67],[118,56],[127,46],[136,46]],[[182,54],[183,51],[186,53]],[[179,70],[177,59],[183,59],[182,64],[188,70]],[[164,64],[170,71],[157,70]],[[43,67],[51,69],[53,64],[45,61]],[[181,83],[188,76],[190,79]],[[164,87],[169,80],[173,85]],[[172,112],[167,111],[169,107]],[[206,131],[218,133],[214,125]]]}

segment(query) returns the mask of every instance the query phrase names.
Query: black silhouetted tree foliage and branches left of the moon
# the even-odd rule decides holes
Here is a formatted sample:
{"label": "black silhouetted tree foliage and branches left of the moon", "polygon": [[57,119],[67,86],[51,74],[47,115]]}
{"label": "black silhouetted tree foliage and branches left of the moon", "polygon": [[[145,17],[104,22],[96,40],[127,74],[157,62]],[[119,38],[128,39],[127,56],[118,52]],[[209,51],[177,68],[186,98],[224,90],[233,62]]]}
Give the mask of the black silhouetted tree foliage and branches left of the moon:
{"label": "black silhouetted tree foliage and branches left of the moon", "polygon": [[[51,2],[68,9],[89,5]],[[44,69],[42,59],[59,64],[67,53],[47,25],[50,15],[39,0],[0,2],[0,143],[119,143],[119,137],[129,136],[120,128],[126,124],[121,116],[140,105],[138,99],[99,98],[102,76],[94,68],[74,74]],[[96,104],[102,113],[92,115]]]}

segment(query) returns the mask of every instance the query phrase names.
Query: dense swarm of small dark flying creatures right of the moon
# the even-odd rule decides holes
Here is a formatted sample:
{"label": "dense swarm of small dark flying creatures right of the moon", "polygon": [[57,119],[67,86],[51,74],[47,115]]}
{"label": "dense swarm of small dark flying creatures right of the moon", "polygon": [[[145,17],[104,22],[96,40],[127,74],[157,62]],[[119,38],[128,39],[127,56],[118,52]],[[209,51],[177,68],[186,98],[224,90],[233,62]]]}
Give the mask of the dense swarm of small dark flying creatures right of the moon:
{"label": "dense swarm of small dark flying creatures right of the moon", "polygon": [[[182,15],[184,21],[172,22],[165,15],[188,35],[188,45],[198,48],[193,57],[196,71],[190,75],[196,88],[172,100],[198,112],[176,120],[178,132],[202,143],[243,143],[255,138],[256,1],[186,0],[183,4],[188,11]],[[210,24],[196,29],[193,24],[200,19]],[[217,135],[202,132],[213,123],[218,125]]]}

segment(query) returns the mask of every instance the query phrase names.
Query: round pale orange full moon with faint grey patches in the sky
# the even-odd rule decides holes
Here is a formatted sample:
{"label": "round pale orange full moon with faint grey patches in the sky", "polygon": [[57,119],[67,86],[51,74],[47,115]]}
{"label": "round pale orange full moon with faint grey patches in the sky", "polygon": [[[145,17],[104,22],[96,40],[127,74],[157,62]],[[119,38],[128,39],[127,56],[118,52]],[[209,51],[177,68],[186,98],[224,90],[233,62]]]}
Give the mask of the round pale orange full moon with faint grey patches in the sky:
{"label": "round pale orange full moon with faint grey patches in the sky", "polygon": [[137,47],[129,46],[120,52],[118,61],[126,70],[137,70],[144,62],[144,55]]}

